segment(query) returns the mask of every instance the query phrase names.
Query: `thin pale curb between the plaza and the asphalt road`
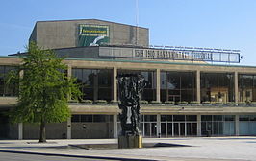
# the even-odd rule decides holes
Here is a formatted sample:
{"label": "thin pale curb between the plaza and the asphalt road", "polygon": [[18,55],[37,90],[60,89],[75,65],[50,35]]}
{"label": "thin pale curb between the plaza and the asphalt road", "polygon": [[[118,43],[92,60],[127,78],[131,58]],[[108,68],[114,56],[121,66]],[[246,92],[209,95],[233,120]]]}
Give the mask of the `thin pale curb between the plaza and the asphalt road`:
{"label": "thin pale curb between the plaza and the asphalt road", "polygon": [[16,150],[0,150],[0,152],[46,155],[46,156],[77,157],[77,158],[89,158],[89,159],[105,159],[105,160],[157,161],[155,159],[141,159],[141,158],[134,159],[134,158],[124,158],[124,157],[115,157],[115,156],[111,157],[111,156],[72,155],[72,154],[63,154],[63,153],[46,153],[46,152],[16,151]]}

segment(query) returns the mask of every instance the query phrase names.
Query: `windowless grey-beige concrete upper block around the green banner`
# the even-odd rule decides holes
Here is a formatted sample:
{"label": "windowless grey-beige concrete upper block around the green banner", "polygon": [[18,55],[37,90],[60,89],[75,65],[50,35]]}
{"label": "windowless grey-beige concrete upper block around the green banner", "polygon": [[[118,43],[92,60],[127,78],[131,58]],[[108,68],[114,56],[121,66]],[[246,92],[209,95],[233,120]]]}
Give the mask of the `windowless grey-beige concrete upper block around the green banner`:
{"label": "windowless grey-beige concrete upper block around the green banner", "polygon": [[138,46],[149,45],[148,29],[97,19],[38,21],[29,40],[45,49],[77,47],[79,24],[108,25],[111,44],[136,45],[138,40]]}

